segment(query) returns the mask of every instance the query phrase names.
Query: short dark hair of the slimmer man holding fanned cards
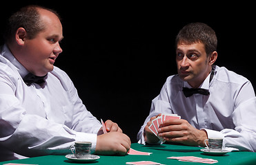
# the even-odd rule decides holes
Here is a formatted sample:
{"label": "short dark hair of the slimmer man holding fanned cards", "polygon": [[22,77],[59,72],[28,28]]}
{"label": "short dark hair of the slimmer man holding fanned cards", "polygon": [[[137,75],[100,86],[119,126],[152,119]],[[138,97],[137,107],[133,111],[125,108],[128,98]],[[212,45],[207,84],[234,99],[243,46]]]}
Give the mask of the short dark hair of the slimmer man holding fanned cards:
{"label": "short dark hair of the slimmer man holding fanned cards", "polygon": [[203,43],[207,56],[217,50],[215,31],[205,23],[189,23],[177,34],[175,45],[178,43]]}

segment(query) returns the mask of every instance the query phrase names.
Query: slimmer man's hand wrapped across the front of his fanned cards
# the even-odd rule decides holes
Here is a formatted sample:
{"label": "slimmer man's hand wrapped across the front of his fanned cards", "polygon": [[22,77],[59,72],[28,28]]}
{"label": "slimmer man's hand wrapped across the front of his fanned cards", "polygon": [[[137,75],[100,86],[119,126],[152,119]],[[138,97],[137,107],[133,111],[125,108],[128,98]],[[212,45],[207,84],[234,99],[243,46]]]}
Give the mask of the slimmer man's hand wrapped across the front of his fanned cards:
{"label": "slimmer man's hand wrapped across the front of his fanned cards", "polygon": [[179,142],[189,146],[205,146],[204,140],[208,139],[207,133],[195,129],[187,120],[166,120],[159,125],[158,135],[167,142]]}

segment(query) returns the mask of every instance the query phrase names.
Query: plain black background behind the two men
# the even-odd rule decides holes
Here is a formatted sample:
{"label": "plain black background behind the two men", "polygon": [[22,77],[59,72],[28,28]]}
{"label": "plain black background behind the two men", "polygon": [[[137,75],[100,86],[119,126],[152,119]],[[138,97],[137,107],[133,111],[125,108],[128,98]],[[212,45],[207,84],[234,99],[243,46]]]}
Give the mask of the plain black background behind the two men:
{"label": "plain black background behind the two men", "polygon": [[64,39],[55,65],[70,76],[88,111],[98,119],[117,122],[132,142],[137,142],[151,100],[166,78],[177,73],[174,41],[187,23],[210,25],[218,38],[215,64],[256,85],[253,4],[5,2],[1,33],[10,14],[30,4],[59,12]]}

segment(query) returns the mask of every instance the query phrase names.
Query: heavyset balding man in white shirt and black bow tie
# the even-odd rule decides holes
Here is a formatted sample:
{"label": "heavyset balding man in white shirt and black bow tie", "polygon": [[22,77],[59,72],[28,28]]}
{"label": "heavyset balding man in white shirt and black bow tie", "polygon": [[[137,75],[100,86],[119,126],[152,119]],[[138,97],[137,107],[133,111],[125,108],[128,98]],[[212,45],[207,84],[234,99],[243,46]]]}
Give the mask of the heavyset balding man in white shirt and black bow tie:
{"label": "heavyset balding man in white shirt and black bow tie", "polygon": [[70,153],[75,141],[92,153],[125,155],[130,138],[111,120],[108,133],[89,112],[68,75],[54,66],[62,50],[56,12],[27,6],[9,19],[0,55],[0,161]]}

